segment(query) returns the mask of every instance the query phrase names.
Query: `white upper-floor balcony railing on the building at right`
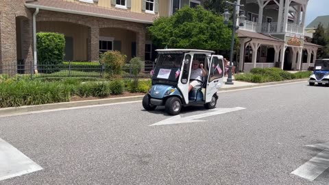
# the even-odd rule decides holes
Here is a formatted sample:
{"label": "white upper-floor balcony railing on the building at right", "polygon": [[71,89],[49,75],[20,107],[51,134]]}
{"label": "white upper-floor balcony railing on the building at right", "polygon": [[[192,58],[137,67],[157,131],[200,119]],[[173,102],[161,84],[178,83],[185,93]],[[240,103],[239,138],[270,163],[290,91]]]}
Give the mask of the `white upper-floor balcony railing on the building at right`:
{"label": "white upper-floor balcony railing on the building at right", "polygon": [[278,30],[278,23],[263,23],[262,25],[259,25],[258,23],[252,21],[245,21],[244,25],[241,26],[239,29],[244,29],[250,32],[260,32],[265,34],[287,33],[287,34],[304,35],[304,29],[302,26],[291,24],[291,23],[287,23],[286,32],[282,31],[283,24],[281,25],[281,27],[279,27]]}

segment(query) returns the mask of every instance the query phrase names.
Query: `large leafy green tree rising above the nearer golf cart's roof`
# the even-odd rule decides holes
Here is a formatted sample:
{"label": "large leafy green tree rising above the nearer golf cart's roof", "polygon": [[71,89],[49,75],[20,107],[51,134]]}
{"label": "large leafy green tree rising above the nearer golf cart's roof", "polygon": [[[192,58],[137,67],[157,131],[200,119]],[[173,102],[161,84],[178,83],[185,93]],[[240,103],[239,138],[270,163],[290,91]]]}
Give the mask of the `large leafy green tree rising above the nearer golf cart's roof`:
{"label": "large leafy green tree rising above the nearer golf cart's roof", "polygon": [[157,18],[148,29],[160,48],[226,50],[231,45],[232,30],[223,24],[223,17],[199,5],[185,6],[173,16]]}

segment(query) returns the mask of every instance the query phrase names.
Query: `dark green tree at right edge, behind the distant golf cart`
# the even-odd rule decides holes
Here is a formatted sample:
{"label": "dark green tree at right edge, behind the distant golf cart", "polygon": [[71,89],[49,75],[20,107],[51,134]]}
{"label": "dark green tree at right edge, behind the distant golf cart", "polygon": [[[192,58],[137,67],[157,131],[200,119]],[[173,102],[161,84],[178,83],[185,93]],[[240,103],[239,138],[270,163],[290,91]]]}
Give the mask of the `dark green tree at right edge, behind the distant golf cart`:
{"label": "dark green tree at right edge, behind the distant golf cart", "polygon": [[317,58],[329,58],[329,27],[324,29],[324,26],[319,23],[313,34],[312,43],[324,47],[319,50]]}

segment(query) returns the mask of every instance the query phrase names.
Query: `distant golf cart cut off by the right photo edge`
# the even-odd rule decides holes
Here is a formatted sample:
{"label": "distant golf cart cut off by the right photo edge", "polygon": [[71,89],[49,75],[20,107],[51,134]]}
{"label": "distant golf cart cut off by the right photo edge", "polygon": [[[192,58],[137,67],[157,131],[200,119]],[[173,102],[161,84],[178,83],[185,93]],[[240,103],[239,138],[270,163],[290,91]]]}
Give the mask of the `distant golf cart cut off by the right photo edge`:
{"label": "distant golf cart cut off by the right photo edge", "polygon": [[310,86],[326,84],[329,86],[329,59],[319,59],[315,61],[313,74],[308,80]]}

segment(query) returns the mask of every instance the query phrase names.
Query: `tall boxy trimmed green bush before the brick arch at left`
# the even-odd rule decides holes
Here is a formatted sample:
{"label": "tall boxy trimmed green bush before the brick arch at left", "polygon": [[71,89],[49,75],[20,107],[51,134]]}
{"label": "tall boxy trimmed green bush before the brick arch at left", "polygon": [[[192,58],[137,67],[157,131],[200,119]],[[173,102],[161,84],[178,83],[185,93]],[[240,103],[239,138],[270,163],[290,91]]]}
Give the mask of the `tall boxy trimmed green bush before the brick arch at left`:
{"label": "tall boxy trimmed green bush before the brick arch at left", "polygon": [[36,40],[38,71],[40,73],[53,73],[58,71],[57,65],[62,64],[64,58],[64,35],[39,32],[36,34]]}

